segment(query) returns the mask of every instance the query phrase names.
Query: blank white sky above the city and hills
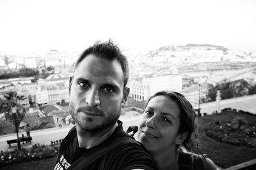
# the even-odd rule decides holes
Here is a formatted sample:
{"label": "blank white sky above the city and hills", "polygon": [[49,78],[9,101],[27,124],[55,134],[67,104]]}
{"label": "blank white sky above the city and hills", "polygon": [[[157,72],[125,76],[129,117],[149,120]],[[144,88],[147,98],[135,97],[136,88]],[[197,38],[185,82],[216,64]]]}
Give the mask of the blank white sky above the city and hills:
{"label": "blank white sky above the city and hills", "polygon": [[0,55],[211,44],[256,51],[255,0],[0,0]]}

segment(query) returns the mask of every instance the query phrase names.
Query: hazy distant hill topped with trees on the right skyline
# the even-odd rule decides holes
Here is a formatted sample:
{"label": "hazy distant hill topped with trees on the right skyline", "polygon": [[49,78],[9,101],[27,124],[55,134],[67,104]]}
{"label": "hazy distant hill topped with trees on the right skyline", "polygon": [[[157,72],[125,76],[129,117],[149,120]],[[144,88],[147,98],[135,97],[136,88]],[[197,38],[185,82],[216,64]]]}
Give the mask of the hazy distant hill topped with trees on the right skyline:
{"label": "hazy distant hill topped with trees on the right skyline", "polygon": [[[254,59],[256,62],[256,52],[246,52],[245,50],[228,49],[225,46],[210,44],[194,44],[187,45],[166,45],[150,50],[141,54],[148,59],[154,57],[177,57],[182,62],[211,62],[211,61],[237,61]],[[188,59],[190,58],[190,59]]]}

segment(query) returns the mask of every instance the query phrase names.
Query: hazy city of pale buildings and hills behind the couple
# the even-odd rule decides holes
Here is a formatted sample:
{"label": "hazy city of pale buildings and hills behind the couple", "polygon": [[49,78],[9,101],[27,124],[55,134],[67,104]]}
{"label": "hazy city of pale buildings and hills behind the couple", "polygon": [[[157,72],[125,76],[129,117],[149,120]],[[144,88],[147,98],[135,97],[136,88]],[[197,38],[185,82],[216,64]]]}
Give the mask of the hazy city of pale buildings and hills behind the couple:
{"label": "hazy city of pale buildings and hills behind the couple", "polygon": [[[124,54],[129,60],[127,86],[131,92],[121,118],[136,118],[133,123],[136,122],[148,97],[161,90],[183,94],[198,116],[220,113],[227,108],[256,114],[253,103],[256,101],[256,52],[188,44],[166,45],[152,51],[124,50]],[[68,110],[68,86],[77,56],[58,50],[22,56],[1,55],[0,72],[4,79],[0,80],[0,97],[3,101],[6,93],[15,92],[23,97],[18,101],[26,109],[24,117],[19,119],[20,133],[26,124],[35,132],[74,124]],[[19,74],[24,71],[26,74]],[[212,91],[223,83],[235,85],[236,90],[237,87],[243,89],[229,97],[220,87]],[[217,90],[223,92],[221,103],[216,101]],[[246,101],[252,103],[248,105]],[[12,112],[1,113],[1,135],[15,133],[16,127],[10,118]]]}

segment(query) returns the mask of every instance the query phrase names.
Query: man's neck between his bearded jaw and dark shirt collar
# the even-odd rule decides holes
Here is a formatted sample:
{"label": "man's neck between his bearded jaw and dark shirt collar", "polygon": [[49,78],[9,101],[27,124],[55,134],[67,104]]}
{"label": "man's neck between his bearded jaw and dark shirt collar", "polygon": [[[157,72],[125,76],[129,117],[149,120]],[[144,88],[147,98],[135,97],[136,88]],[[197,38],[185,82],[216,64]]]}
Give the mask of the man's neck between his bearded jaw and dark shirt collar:
{"label": "man's neck between his bearded jaw and dark shirt collar", "polygon": [[117,123],[109,128],[103,129],[102,131],[90,132],[84,131],[76,125],[79,147],[88,149],[92,148],[93,146],[99,145],[100,143],[102,143],[102,141],[105,141],[109,138],[109,136],[111,136],[111,134],[113,134],[116,126]]}

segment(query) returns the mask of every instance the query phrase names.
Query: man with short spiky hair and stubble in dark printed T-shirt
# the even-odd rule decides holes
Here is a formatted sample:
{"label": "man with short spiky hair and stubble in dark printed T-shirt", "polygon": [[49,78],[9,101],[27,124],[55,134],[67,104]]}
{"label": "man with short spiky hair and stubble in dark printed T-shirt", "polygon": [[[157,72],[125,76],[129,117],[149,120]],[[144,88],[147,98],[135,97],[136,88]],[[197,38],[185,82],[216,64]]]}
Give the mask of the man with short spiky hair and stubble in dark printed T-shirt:
{"label": "man with short spiky hair and stubble in dark printed T-shirt", "polygon": [[69,87],[76,127],[62,141],[54,170],[156,169],[150,153],[124,132],[118,120],[129,95],[128,77],[127,59],[111,41],[81,53]]}

